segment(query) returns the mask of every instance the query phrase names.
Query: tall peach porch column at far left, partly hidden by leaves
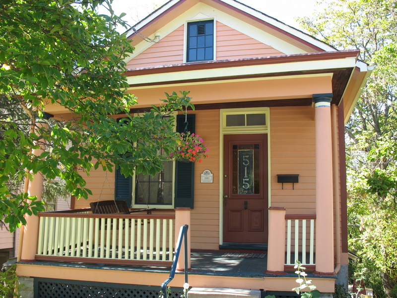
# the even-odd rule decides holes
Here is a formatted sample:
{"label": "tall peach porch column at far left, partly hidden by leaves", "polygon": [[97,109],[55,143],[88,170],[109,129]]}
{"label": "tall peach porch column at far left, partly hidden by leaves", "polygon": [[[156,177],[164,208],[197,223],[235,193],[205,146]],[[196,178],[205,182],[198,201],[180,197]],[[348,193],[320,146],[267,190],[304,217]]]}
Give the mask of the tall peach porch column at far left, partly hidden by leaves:
{"label": "tall peach porch column at far left, partly hidden by leaves", "polygon": [[[53,115],[44,113],[43,119],[36,118],[36,130],[44,127],[48,127],[48,120]],[[34,149],[33,154],[39,156],[45,150],[45,145],[41,145],[39,149]],[[33,180],[28,182],[27,193],[29,196],[36,196],[37,200],[41,200],[43,192],[43,176],[39,172],[33,176]],[[35,254],[37,252],[37,243],[39,238],[39,218],[35,215],[25,215],[26,225],[23,228],[23,239],[22,239],[22,250],[21,250],[21,261],[33,262],[35,260]]]}

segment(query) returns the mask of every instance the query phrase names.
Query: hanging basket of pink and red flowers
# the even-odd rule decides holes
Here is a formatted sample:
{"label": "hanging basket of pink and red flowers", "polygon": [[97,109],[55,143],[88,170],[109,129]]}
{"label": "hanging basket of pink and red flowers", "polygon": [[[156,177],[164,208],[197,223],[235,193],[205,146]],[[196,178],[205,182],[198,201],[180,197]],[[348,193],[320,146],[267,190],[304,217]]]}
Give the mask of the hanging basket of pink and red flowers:
{"label": "hanging basket of pink and red flowers", "polygon": [[181,133],[177,141],[179,147],[170,154],[170,158],[183,162],[201,162],[203,158],[208,157],[208,148],[202,142],[199,135]]}

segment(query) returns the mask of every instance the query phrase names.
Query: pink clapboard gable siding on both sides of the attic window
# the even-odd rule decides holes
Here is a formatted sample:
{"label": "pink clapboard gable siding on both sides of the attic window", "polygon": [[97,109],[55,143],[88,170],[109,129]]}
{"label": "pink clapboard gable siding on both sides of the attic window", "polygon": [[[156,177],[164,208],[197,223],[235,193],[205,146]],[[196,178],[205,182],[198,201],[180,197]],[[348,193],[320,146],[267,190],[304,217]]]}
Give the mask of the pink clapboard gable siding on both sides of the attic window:
{"label": "pink clapboard gable siding on both sides of the attic window", "polygon": [[[283,53],[216,22],[216,60],[255,58]],[[154,67],[183,63],[184,25],[162,38],[158,43],[127,63],[127,68]]]}

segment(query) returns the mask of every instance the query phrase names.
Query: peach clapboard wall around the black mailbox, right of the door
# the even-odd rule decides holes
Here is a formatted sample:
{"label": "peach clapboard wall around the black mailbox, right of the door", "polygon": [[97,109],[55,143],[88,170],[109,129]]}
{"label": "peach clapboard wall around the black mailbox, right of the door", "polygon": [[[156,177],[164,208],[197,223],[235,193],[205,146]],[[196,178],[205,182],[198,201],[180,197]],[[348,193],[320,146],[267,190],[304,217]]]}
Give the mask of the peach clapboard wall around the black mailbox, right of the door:
{"label": "peach clapboard wall around the black mailbox, right of the door", "polygon": [[[315,122],[312,107],[270,108],[271,205],[287,214],[316,213]],[[299,183],[277,183],[277,174],[299,174]]]}

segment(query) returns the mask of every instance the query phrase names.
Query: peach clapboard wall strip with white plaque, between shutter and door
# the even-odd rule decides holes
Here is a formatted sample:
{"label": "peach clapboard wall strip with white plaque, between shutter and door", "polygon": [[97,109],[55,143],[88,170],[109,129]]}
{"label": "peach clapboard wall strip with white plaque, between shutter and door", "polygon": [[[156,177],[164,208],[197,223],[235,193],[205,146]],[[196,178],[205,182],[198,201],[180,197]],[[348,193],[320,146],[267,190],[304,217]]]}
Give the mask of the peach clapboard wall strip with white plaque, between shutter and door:
{"label": "peach clapboard wall strip with white plaque, between shutter and door", "polygon": [[[219,110],[196,111],[196,133],[208,146],[208,158],[195,164],[195,208],[191,215],[193,249],[219,248]],[[213,183],[200,183],[208,169]]]}

